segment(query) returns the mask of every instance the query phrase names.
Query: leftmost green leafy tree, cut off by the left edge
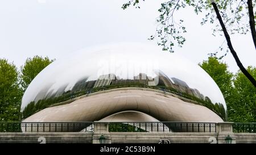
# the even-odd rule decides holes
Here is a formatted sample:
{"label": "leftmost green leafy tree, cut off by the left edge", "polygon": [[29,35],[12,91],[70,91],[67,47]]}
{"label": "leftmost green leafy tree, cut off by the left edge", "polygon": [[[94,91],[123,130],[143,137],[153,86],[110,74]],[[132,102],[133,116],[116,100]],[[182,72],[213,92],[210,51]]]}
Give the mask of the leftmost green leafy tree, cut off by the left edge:
{"label": "leftmost green leafy tree, cut off by the left edge", "polygon": [[18,121],[22,90],[14,64],[0,58],[0,121]]}

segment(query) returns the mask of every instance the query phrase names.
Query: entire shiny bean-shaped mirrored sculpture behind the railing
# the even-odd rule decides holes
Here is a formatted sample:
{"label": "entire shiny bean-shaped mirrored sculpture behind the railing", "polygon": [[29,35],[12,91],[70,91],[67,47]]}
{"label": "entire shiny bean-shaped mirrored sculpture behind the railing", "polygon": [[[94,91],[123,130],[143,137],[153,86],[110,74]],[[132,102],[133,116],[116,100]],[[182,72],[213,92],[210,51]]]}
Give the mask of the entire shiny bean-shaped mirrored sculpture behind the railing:
{"label": "entire shiny bean-shaped mirrored sculpture behind the railing", "polygon": [[200,66],[159,47],[130,43],[56,60],[28,86],[21,111],[23,122],[226,120],[224,97]]}

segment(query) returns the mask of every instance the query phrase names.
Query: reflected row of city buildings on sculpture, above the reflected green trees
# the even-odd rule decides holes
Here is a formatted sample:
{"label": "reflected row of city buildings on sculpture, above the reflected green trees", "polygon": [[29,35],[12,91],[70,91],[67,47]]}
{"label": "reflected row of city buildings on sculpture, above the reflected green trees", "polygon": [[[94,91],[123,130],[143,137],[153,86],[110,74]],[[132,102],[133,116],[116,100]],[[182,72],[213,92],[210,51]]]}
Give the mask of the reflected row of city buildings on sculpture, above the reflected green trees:
{"label": "reflected row of city buildings on sculpture, above the reflected green trees", "polygon": [[[133,79],[120,79],[115,74],[104,74],[97,78],[97,80],[88,81],[88,77],[84,77],[77,81],[71,90],[65,91],[68,84],[60,87],[57,91],[43,89],[35,97],[34,101],[37,102],[40,99],[54,98],[59,97],[67,92],[79,92],[79,91],[90,91],[92,89],[97,89],[100,87],[106,86],[125,86],[125,85],[141,85],[141,86],[152,86],[152,87],[167,87],[174,89],[178,92],[191,95],[193,97],[205,100],[205,96],[200,93],[196,88],[193,89],[187,85],[186,82],[182,81],[179,78],[168,78],[166,74],[159,70],[155,72],[156,77],[147,76],[146,73],[139,73],[137,76],[134,76]],[[209,98],[208,98],[209,99]]]}

